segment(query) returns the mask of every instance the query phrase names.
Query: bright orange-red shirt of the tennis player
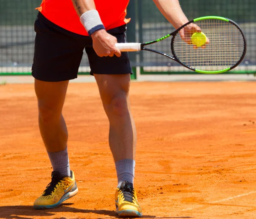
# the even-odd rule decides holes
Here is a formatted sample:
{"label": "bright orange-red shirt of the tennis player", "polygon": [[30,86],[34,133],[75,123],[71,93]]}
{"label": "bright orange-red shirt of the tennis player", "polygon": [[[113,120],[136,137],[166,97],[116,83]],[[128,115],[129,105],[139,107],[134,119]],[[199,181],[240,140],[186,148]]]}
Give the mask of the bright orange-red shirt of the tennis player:
{"label": "bright orange-red shirt of the tennis player", "polygon": [[[129,19],[125,19],[129,0],[94,0],[94,2],[106,30],[129,22]],[[43,0],[37,9],[52,23],[73,33],[88,36],[72,0]]]}

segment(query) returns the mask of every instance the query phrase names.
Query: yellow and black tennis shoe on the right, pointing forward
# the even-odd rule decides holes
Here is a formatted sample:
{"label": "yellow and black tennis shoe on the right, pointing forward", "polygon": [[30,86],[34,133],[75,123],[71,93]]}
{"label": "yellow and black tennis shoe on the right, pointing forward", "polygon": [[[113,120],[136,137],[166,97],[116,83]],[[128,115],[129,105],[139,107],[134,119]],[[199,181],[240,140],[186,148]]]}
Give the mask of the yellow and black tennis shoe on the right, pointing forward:
{"label": "yellow and black tennis shoe on the right, pointing forward", "polygon": [[141,217],[142,210],[137,201],[136,191],[132,183],[122,182],[116,188],[116,213],[121,217]]}

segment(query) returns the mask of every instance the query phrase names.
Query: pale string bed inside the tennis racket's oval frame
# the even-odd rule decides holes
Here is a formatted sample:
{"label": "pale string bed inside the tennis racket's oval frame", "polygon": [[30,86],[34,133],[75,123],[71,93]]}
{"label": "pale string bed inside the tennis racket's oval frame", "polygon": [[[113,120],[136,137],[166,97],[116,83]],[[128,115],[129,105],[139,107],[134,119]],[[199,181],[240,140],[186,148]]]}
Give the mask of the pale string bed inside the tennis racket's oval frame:
{"label": "pale string bed inside the tennis racket's oval frame", "polygon": [[[209,38],[206,48],[194,48],[177,34],[174,39],[176,57],[183,64],[203,71],[220,71],[235,65],[244,52],[241,31],[230,22],[206,19],[195,22]],[[190,24],[193,25],[193,24]],[[184,31],[189,40],[194,32]]]}

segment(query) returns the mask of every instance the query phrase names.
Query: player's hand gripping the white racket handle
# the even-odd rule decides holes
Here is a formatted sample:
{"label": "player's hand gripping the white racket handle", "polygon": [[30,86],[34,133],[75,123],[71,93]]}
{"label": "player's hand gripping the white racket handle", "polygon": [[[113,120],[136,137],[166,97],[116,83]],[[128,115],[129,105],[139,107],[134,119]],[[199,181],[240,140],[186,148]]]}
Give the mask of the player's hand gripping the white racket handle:
{"label": "player's hand gripping the white racket handle", "polygon": [[121,56],[121,52],[116,48],[117,43],[116,37],[108,34],[104,29],[95,31],[91,34],[93,39],[93,49],[99,57],[116,55]]}

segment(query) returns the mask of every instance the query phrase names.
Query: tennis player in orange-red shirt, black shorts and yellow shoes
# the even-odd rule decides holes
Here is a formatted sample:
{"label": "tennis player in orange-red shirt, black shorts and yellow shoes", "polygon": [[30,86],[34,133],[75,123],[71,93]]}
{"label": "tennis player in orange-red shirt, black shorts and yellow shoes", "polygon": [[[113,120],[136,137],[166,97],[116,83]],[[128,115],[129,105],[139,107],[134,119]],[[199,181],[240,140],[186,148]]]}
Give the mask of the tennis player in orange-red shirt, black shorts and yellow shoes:
{"label": "tennis player in orange-red shirt, black shorts and yellow shoes", "polygon": [[[109,145],[118,179],[116,212],[119,216],[142,216],[134,189],[136,128],[129,101],[131,65],[128,53],[115,47],[117,42],[125,43],[128,2],[43,0],[38,8],[32,75],[39,129],[53,171],[51,182],[35,200],[35,209],[58,207],[78,192],[75,175],[70,171],[62,108],[69,80],[77,77],[85,48],[90,74],[96,79],[109,120]],[[178,0],[154,0],[154,3],[175,28],[188,21]],[[191,31],[200,28],[192,25],[180,33],[187,43],[191,43]]]}

